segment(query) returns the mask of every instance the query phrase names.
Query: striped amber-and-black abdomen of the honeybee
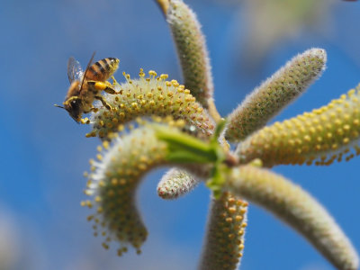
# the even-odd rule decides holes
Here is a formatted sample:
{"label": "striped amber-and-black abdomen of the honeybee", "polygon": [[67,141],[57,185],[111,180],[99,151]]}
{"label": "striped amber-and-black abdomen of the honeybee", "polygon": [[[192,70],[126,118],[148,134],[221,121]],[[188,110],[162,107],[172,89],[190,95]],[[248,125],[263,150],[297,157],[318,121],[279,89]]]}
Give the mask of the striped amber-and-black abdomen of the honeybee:
{"label": "striped amber-and-black abdomen of the honeybee", "polygon": [[118,69],[118,58],[103,58],[87,69],[85,79],[104,82]]}

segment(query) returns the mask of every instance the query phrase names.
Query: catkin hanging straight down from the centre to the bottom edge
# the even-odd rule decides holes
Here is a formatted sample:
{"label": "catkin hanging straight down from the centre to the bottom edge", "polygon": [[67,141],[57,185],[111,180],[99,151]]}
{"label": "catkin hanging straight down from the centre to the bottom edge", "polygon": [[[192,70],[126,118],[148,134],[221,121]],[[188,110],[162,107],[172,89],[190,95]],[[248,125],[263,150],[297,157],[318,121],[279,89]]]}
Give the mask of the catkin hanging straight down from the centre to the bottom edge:
{"label": "catkin hanging straight down from the centre to the bottom edge", "polygon": [[212,199],[200,270],[235,270],[243,256],[247,202],[230,193]]}

